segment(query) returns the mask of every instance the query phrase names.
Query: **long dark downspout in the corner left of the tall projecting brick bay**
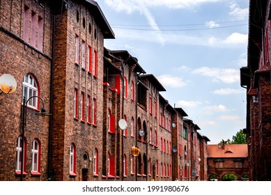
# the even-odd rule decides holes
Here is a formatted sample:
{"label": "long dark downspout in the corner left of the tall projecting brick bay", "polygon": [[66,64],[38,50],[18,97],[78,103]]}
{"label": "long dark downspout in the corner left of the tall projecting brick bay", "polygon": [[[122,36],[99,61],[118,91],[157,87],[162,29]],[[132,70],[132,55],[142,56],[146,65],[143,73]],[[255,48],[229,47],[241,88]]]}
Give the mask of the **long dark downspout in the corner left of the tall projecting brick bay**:
{"label": "long dark downspout in the corner left of the tall projecting brick bay", "polygon": [[[50,107],[49,113],[53,113],[53,81],[54,81],[54,45],[55,45],[56,15],[52,14],[52,61],[51,61],[51,78],[50,78]],[[52,119],[49,116],[49,133],[48,133],[48,156],[47,156],[47,180],[51,180],[51,163],[52,163]]]}

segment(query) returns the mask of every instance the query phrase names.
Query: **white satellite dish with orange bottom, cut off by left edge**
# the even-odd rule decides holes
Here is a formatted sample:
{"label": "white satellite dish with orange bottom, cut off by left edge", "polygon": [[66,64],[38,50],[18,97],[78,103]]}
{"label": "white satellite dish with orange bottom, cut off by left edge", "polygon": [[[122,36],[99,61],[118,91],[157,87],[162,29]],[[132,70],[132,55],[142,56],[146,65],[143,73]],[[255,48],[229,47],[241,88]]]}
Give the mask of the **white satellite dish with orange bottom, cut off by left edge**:
{"label": "white satellite dish with orange bottom, cut off by left edge", "polygon": [[3,74],[0,77],[0,90],[3,93],[13,93],[17,88],[17,82],[15,78],[9,74]]}

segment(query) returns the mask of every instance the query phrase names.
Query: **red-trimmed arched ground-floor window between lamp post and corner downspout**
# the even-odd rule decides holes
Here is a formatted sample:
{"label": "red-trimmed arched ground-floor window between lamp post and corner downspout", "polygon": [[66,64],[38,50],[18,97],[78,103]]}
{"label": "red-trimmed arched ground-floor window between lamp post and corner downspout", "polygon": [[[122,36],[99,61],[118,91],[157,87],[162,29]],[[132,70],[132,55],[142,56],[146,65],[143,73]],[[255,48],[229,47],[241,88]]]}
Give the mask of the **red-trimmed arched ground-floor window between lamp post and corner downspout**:
{"label": "red-trimmed arched ground-floor window between lamp post and corner downspout", "polygon": [[40,141],[34,139],[32,143],[32,174],[40,173]]}

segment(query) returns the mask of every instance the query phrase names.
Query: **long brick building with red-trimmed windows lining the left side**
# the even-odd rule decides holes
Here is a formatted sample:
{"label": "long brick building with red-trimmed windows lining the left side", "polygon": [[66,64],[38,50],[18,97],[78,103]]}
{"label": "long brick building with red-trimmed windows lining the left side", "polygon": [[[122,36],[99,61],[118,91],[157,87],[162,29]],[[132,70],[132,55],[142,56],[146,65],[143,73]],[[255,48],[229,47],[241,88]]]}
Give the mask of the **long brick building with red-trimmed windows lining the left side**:
{"label": "long brick building with red-trimmed windows lining the left side", "polygon": [[0,76],[17,81],[0,91],[0,180],[206,180],[208,138],[106,38],[96,1],[0,2]]}

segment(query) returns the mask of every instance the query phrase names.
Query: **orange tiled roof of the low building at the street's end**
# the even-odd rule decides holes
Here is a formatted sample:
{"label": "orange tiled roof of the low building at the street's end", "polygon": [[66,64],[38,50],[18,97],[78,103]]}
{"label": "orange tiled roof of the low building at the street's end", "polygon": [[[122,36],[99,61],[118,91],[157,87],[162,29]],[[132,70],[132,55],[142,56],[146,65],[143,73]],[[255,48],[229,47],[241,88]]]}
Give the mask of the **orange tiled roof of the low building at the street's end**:
{"label": "orange tiled roof of the low building at the street's end", "polygon": [[[219,148],[219,146],[221,146]],[[247,144],[225,144],[207,145],[208,157],[227,158],[227,157],[247,157]]]}

